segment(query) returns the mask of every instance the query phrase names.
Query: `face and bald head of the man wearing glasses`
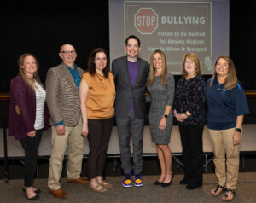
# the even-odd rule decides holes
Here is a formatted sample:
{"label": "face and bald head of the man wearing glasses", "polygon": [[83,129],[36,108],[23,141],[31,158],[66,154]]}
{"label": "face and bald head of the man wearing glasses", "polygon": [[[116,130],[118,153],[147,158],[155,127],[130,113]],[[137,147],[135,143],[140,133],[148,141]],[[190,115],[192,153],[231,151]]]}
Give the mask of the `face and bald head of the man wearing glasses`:
{"label": "face and bald head of the man wearing glasses", "polygon": [[61,52],[59,53],[62,61],[69,67],[73,66],[74,61],[77,58],[77,52],[70,44],[64,44],[61,47]]}

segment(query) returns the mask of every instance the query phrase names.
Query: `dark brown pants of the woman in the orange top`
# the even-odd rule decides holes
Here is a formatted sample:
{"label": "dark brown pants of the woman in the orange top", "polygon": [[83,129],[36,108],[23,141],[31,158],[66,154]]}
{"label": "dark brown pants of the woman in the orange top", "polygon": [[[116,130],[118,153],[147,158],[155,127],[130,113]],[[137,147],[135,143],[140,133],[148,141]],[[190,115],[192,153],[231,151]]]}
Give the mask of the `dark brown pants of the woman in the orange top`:
{"label": "dark brown pants of the woman in the orange top", "polygon": [[90,148],[88,157],[89,179],[102,176],[112,127],[113,118],[88,119],[88,141]]}

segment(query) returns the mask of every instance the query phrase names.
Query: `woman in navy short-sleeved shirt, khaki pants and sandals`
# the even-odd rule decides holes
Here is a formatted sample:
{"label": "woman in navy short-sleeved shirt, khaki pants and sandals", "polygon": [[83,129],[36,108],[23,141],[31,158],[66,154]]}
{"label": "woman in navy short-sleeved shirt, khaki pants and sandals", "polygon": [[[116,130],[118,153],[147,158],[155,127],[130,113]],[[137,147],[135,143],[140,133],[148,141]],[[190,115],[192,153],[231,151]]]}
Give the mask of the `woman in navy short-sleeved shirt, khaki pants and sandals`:
{"label": "woman in navy short-sleeved shirt, khaki pants and sandals", "polygon": [[213,143],[218,185],[212,196],[224,193],[222,200],[235,196],[239,172],[239,148],[243,116],[249,113],[247,98],[237,82],[236,69],[228,56],[219,56],[215,71],[207,81],[207,128]]}

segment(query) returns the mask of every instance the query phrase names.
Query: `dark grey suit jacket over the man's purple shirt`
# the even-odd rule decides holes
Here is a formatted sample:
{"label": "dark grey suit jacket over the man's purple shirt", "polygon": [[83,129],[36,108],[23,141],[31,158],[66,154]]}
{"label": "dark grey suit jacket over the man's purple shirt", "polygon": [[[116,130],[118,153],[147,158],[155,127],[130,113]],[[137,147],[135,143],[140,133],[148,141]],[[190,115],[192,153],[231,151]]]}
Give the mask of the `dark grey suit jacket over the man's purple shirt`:
{"label": "dark grey suit jacket over the man's purple shirt", "polygon": [[133,85],[131,84],[128,70],[127,56],[113,60],[111,72],[114,76],[116,90],[114,101],[115,116],[127,116],[132,99],[136,118],[144,119],[146,111],[145,90],[149,72],[148,62],[138,58],[137,77]]}

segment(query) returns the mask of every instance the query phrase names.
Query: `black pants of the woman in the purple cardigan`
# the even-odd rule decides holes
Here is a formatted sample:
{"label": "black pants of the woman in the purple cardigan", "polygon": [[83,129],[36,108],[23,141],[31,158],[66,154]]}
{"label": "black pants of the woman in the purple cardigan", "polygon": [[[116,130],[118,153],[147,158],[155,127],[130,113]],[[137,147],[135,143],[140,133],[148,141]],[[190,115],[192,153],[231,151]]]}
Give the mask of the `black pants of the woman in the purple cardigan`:
{"label": "black pants of the woman in the purple cardigan", "polygon": [[42,137],[42,130],[36,131],[36,136],[26,136],[20,140],[25,151],[24,159],[24,186],[32,187],[34,182],[35,171],[38,163],[38,146]]}

